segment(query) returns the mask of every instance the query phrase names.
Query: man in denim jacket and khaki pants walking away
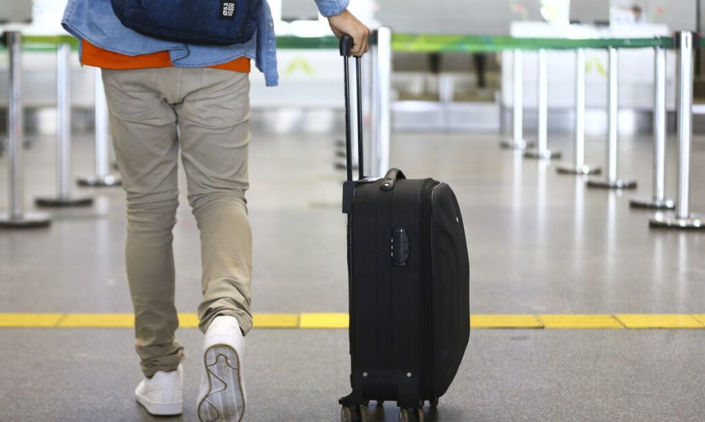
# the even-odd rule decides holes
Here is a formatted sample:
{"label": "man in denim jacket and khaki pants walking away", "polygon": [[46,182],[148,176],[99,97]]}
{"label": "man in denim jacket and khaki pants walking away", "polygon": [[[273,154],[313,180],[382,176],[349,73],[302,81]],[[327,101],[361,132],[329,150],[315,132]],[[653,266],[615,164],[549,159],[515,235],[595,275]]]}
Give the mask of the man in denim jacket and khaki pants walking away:
{"label": "man in denim jacket and khaki pants walking away", "polygon": [[[347,11],[348,0],[315,1],[338,37],[353,37],[353,54],[364,54],[369,29]],[[240,421],[245,413],[243,337],[252,328],[252,235],[245,200],[250,61],[262,70],[266,85],[278,79],[266,0],[261,7],[255,37],[230,46],[142,35],[123,26],[111,0],[69,0],[64,14],[64,27],[80,40],[82,64],[103,69],[127,198],[125,264],[135,349],[145,375],[135,397],[150,414],[183,409],[172,252],[179,151],[201,234],[198,316],[205,337],[198,415],[200,421]]]}

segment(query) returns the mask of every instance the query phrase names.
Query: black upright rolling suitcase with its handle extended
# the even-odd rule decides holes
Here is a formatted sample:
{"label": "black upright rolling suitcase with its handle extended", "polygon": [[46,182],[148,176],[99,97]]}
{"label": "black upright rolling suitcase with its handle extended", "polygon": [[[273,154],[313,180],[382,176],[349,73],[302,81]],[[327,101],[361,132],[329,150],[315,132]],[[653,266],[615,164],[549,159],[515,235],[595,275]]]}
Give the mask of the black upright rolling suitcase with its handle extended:
{"label": "black upright rolling suitcase with its handle extended", "polygon": [[348,288],[353,392],[339,403],[341,421],[366,421],[370,400],[396,401],[399,420],[423,418],[438,404],[458,371],[470,335],[470,263],[455,194],[431,178],[406,179],[397,169],[364,178],[360,58],[357,116],[360,179],[350,161],[350,87],[345,60],[348,181]]}

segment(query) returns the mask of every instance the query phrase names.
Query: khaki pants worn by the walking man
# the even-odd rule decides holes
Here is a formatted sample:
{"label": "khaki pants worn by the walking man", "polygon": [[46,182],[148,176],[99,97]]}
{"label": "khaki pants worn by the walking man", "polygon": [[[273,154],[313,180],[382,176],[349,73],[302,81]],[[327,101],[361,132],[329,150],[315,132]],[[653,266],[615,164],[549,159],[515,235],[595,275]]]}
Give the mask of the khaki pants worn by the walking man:
{"label": "khaki pants worn by the walking man", "polygon": [[142,371],[173,371],[183,360],[174,340],[171,242],[178,206],[180,151],[188,201],[201,234],[200,329],[234,316],[252,328],[252,233],[247,220],[250,82],[245,73],[208,68],[104,70],[111,131],[127,193],[125,245]]}

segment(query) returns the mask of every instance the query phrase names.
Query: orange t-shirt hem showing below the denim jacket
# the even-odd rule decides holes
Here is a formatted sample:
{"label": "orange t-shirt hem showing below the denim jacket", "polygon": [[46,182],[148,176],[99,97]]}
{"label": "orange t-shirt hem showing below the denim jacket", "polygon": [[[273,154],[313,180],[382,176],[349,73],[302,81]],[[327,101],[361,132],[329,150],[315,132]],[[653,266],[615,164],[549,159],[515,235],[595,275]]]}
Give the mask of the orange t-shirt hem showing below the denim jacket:
{"label": "orange t-shirt hem showing below the denim jacket", "polygon": [[[169,68],[174,66],[168,51],[160,51],[154,54],[142,54],[141,56],[126,56],[94,46],[90,42],[83,40],[83,54],[81,62],[86,66],[94,66],[103,69],[147,69],[147,68]],[[233,72],[250,73],[250,59],[247,57],[235,58],[228,63],[216,66],[208,66],[213,69],[232,70]]]}

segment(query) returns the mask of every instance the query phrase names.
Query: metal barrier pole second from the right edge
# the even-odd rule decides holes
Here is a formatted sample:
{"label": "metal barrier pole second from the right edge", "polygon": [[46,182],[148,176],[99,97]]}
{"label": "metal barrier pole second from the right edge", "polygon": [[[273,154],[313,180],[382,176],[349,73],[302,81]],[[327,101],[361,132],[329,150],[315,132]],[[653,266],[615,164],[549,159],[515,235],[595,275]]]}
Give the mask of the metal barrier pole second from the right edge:
{"label": "metal barrier pole second from the right edge", "polygon": [[654,49],[654,194],[635,198],[632,208],[674,209],[675,201],[666,199],[666,49]]}

